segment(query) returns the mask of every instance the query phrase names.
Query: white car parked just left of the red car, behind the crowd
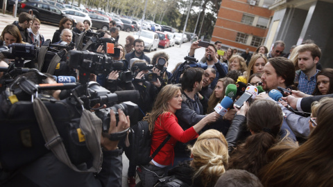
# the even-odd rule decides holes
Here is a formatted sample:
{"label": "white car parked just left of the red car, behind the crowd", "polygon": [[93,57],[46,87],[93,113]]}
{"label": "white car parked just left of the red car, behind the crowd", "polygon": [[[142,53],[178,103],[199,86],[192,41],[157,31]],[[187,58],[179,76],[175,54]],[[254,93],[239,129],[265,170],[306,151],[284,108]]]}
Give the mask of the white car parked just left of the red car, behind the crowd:
{"label": "white car parked just left of the red car, behind the crowd", "polygon": [[152,50],[157,50],[158,43],[160,42],[157,33],[149,30],[141,30],[135,33],[134,38],[138,39],[139,35],[140,39],[144,40],[144,49],[148,50],[149,52]]}

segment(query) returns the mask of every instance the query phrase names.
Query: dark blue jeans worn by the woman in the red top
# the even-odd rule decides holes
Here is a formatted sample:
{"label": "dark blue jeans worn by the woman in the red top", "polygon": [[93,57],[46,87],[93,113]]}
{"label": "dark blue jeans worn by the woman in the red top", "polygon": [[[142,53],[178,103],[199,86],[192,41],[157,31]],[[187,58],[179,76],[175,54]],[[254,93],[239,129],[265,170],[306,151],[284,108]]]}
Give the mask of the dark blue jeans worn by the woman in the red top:
{"label": "dark blue jeans worn by the woman in the red top", "polygon": [[137,168],[137,175],[139,175],[142,187],[151,187],[158,179],[167,176],[167,170],[148,163]]}

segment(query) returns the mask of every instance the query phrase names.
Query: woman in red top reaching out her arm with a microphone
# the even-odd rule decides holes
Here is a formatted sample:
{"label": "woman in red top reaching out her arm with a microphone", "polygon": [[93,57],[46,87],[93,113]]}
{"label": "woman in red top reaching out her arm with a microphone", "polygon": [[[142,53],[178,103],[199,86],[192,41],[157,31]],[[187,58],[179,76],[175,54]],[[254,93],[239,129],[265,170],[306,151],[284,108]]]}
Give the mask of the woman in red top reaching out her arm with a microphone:
{"label": "woman in red top reaching out her arm with a microphone", "polygon": [[177,109],[182,107],[180,87],[169,84],[157,95],[155,105],[150,114],[144,118],[149,123],[149,130],[152,132],[151,154],[170,134],[171,139],[163,146],[160,152],[146,166],[139,166],[137,173],[142,181],[142,186],[151,187],[155,182],[164,177],[166,167],[173,163],[173,146],[177,141],[186,143],[198,137],[198,132],[207,125],[219,118],[219,114],[212,112],[199,121],[193,127],[182,130],[175,116]]}

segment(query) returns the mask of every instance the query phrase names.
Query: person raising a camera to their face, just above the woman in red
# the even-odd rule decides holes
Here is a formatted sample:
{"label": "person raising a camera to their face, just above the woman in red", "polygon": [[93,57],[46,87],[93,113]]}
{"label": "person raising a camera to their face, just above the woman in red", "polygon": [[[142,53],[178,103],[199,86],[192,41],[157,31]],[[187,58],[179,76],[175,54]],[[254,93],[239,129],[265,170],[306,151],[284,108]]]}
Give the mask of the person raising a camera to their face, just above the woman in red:
{"label": "person raising a camera to their face, just above the woman in red", "polygon": [[162,87],[167,84],[171,84],[172,73],[167,71],[169,65],[169,55],[164,52],[155,53],[151,60],[151,64],[155,66],[155,69],[160,70],[160,73],[157,74],[157,78],[160,80]]}

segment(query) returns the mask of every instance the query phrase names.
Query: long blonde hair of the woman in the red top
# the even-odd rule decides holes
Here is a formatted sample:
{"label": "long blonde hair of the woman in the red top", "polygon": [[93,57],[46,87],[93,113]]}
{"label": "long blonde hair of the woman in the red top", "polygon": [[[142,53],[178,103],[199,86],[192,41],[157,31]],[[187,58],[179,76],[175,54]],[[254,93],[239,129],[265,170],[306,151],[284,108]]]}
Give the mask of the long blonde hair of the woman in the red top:
{"label": "long blonde hair of the woman in the red top", "polygon": [[[169,112],[169,100],[176,96],[176,94],[180,91],[180,87],[174,84],[168,84],[163,87],[160,93],[157,94],[153,109],[151,113],[148,113],[144,117],[144,121],[148,121],[149,123],[149,131],[153,132],[155,121],[161,114]],[[161,125],[161,124],[160,124]]]}

